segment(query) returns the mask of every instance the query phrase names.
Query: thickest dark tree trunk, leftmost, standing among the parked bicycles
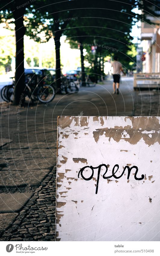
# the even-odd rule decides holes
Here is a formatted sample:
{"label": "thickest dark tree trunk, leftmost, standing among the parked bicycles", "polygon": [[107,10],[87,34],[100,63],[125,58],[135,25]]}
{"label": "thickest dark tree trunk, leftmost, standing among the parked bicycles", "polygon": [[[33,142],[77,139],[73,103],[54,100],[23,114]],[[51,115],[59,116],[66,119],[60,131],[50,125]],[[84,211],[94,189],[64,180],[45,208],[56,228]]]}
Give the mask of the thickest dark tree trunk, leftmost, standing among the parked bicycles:
{"label": "thickest dark tree trunk, leftmost, standing among the parked bicycles", "polygon": [[[23,8],[21,8],[23,9]],[[14,11],[15,19],[15,34],[16,34],[16,71],[15,71],[15,88],[14,88],[14,105],[23,105],[25,97],[22,96],[24,93],[24,18],[23,10],[21,9]]]}

